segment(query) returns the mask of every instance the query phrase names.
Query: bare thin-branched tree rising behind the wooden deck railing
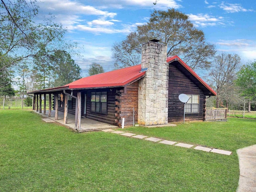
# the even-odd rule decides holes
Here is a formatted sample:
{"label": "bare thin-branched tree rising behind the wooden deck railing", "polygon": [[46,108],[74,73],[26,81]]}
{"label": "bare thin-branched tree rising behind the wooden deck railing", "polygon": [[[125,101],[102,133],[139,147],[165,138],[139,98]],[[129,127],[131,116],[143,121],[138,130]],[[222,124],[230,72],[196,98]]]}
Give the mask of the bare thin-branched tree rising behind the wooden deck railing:
{"label": "bare thin-branched tree rising behind the wooden deck railing", "polygon": [[[216,86],[216,108],[219,108],[220,101],[225,100],[228,103],[229,90],[234,85],[236,72],[240,68],[240,56],[237,54],[218,54],[212,64],[210,70],[210,78],[212,78],[214,86]],[[228,95],[228,96],[227,96]]]}

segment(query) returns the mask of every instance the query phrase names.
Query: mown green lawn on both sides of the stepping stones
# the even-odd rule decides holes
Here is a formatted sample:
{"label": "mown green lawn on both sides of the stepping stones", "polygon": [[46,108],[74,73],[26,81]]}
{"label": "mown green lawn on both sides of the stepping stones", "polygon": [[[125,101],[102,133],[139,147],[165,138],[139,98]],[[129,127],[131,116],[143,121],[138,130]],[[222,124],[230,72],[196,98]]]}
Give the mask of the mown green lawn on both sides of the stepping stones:
{"label": "mown green lawn on both sides of the stepping stones", "polygon": [[[232,150],[231,156],[128,138],[76,133],[28,110],[0,110],[0,191],[235,192],[235,150],[255,144],[255,120],[126,128]],[[218,133],[218,134],[217,134]]]}

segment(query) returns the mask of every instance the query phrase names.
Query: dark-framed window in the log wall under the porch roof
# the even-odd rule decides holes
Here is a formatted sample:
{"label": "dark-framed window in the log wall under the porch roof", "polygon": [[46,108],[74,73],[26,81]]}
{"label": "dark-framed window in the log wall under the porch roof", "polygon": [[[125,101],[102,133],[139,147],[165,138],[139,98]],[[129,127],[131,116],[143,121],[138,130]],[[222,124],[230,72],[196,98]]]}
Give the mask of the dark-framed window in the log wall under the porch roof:
{"label": "dark-framed window in the log wall under the porch roof", "polygon": [[107,92],[91,93],[91,112],[107,114]]}

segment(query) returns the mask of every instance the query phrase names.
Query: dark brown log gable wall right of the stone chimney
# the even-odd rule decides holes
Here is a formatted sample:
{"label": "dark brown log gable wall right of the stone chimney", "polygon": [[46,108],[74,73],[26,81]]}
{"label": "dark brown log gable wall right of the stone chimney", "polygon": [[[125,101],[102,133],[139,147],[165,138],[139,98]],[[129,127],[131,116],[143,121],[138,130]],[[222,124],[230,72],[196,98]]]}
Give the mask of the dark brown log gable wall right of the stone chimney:
{"label": "dark brown log gable wall right of the stone chimney", "polygon": [[185,120],[203,120],[204,94],[198,86],[188,79],[172,64],[169,65],[169,98],[168,122],[183,121],[184,104],[180,102],[180,94],[197,94],[199,99],[199,113],[185,114]]}

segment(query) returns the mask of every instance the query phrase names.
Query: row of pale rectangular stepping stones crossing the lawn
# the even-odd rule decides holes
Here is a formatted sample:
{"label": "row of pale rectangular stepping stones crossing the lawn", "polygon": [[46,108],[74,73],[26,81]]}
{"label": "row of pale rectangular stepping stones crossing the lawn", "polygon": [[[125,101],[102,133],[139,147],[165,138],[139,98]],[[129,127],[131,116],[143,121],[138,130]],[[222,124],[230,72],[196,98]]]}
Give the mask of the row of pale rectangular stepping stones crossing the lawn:
{"label": "row of pale rectangular stepping stones crossing the lawn", "polygon": [[[44,120],[44,119],[42,119],[42,120]],[[49,120],[49,119],[47,118],[47,120]],[[136,135],[136,134],[127,133],[127,132],[124,132],[124,131],[115,131],[113,129],[104,129],[102,131],[103,132],[111,132],[111,133],[115,133],[115,134],[120,134],[120,135],[128,136],[128,137],[134,137],[134,138],[138,138],[138,139],[145,139],[145,140],[152,141],[152,142],[159,142],[159,143],[166,144],[166,145],[174,145],[176,143],[174,141],[162,140],[162,139],[158,139],[158,138],[154,138],[154,137],[148,137],[148,136],[144,136],[144,135]],[[193,145],[186,144],[186,143],[178,143],[174,146],[180,146],[180,147],[184,147],[184,148],[191,148]],[[211,149],[211,148],[201,147],[201,146],[196,146],[194,149],[205,151],[205,152],[213,152],[213,153],[218,153],[218,154],[224,154],[224,155],[231,155],[232,154],[231,151],[225,151],[225,150],[220,150],[220,149]]]}

